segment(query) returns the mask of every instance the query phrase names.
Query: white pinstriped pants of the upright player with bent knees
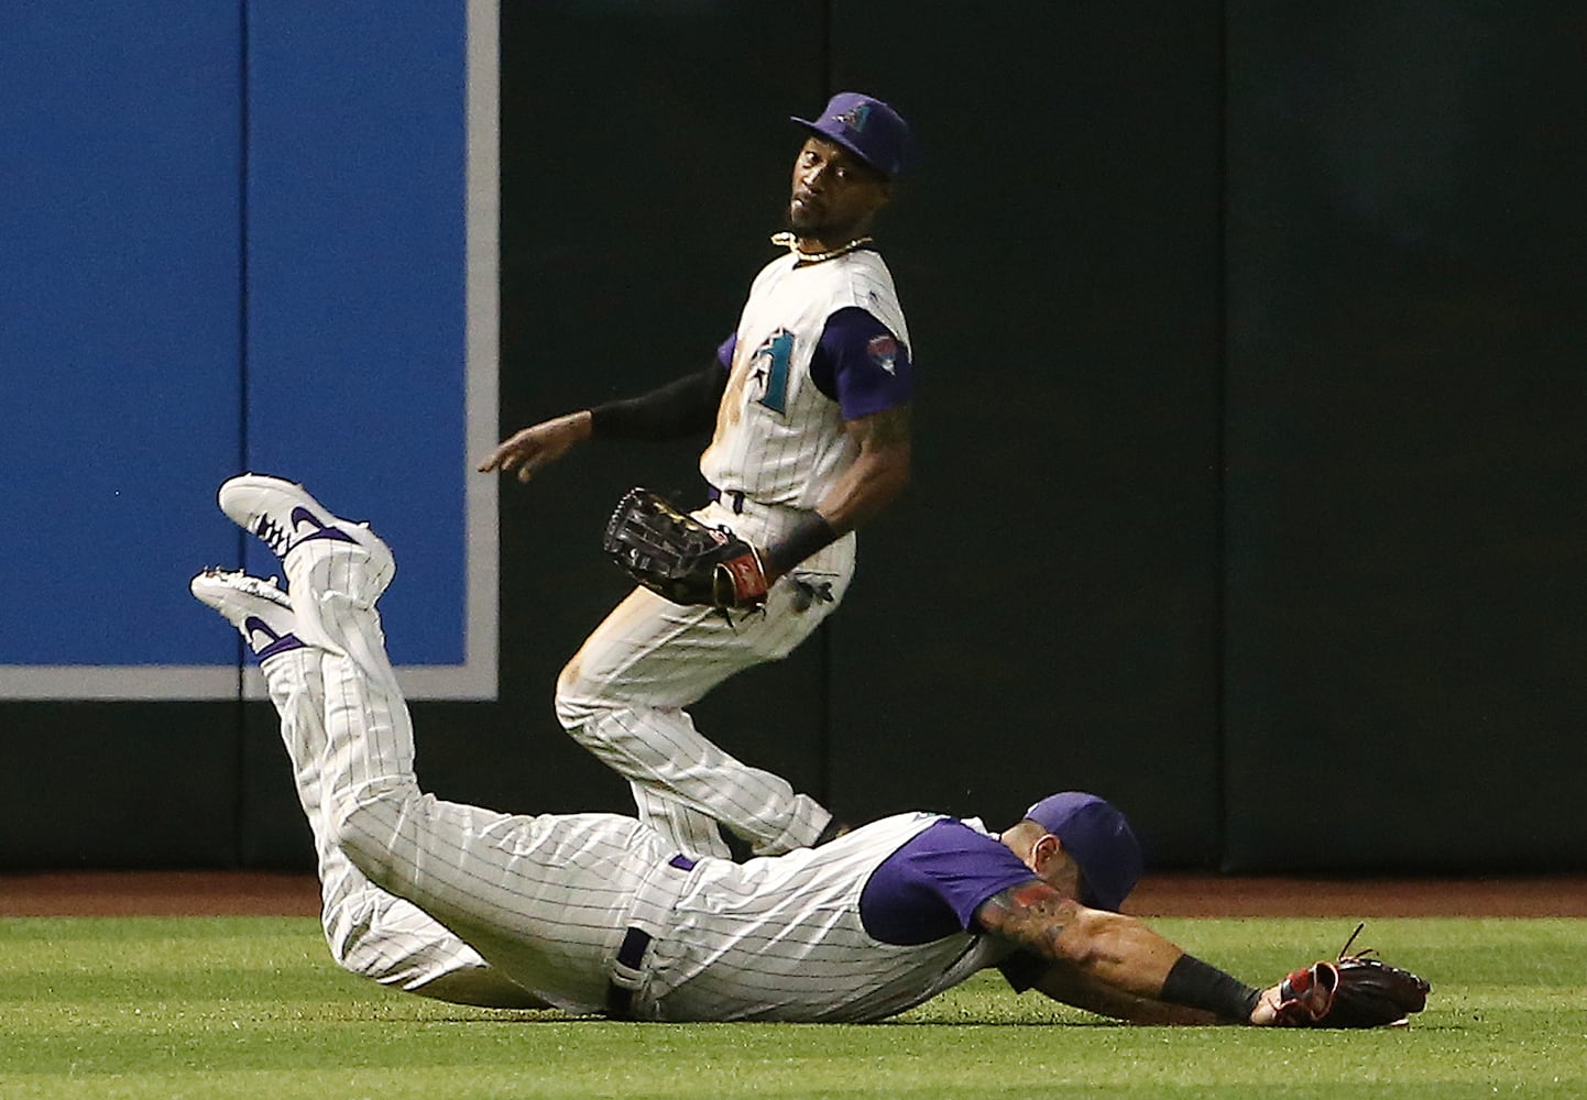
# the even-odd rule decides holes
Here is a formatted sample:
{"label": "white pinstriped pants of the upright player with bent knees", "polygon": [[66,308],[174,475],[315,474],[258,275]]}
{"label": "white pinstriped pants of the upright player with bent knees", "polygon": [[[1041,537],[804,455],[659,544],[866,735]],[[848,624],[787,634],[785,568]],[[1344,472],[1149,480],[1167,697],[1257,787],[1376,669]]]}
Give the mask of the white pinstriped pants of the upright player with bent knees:
{"label": "white pinstriped pants of the upright player with bent knees", "polygon": [[[795,513],[746,502],[694,513],[767,546]],[[694,856],[730,857],[717,822],[757,856],[811,844],[832,819],[781,776],[752,768],[700,735],[684,710],[733,673],[787,657],[836,610],[854,576],[854,535],[840,538],[778,581],[763,611],[686,608],[635,589],[584,641],[557,679],[557,717],[579,744],[628,781],[640,821]],[[830,600],[801,598],[795,579],[828,586]],[[797,705],[774,700],[771,705]],[[805,700],[820,706],[822,700]]]}

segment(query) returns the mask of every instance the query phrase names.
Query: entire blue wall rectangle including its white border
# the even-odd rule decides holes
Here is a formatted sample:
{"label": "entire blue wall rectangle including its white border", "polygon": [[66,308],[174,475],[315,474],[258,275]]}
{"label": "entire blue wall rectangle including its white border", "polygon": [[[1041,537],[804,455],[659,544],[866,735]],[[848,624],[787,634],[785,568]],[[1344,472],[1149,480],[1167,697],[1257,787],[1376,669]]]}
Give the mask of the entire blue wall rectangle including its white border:
{"label": "entire blue wall rectangle including its white border", "polygon": [[0,697],[254,694],[187,595],[278,568],[244,468],[394,544],[409,690],[492,695],[494,3],[6,5],[0,81]]}

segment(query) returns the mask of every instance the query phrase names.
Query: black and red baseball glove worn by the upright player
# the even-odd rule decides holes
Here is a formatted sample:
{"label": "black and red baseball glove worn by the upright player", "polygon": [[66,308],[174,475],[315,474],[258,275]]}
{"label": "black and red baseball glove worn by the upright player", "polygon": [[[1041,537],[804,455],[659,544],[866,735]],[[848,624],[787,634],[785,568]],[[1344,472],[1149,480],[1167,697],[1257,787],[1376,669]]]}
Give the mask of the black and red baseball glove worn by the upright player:
{"label": "black and red baseball glove worn by the upright player", "polygon": [[754,608],[767,600],[760,554],[727,527],[706,527],[649,489],[630,489],[601,546],[624,573],[682,605]]}

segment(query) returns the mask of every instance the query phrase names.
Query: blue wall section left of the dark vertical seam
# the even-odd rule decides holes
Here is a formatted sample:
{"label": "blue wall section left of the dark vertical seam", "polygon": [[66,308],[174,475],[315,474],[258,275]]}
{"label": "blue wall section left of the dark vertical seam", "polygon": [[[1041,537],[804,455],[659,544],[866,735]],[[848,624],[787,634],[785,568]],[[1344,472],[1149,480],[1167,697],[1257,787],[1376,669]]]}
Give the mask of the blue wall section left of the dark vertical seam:
{"label": "blue wall section left of the dark vertical seam", "polygon": [[0,6],[0,667],[236,660],[238,14]]}

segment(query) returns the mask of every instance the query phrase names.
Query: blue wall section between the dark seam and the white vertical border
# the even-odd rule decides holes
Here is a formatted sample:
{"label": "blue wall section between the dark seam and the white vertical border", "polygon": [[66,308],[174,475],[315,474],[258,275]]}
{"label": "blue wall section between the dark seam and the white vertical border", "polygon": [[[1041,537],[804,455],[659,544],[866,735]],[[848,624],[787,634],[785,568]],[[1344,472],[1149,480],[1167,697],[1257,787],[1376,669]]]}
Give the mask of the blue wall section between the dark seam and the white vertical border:
{"label": "blue wall section between the dark seam and the white vertical border", "polygon": [[249,6],[246,462],[392,544],[398,665],[465,657],[463,16]]}

